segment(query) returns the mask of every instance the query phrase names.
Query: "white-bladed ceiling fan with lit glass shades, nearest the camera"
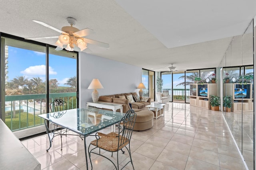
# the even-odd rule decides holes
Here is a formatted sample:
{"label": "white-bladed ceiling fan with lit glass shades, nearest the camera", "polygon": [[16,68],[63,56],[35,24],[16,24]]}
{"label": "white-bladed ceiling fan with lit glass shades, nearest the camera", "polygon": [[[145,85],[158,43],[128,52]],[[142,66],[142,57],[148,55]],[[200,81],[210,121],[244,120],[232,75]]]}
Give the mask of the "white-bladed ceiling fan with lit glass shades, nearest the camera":
{"label": "white-bladed ceiling fan with lit glass shades, nearest the camera", "polygon": [[42,21],[32,20],[36,23],[39,23],[45,27],[48,27],[50,29],[53,29],[54,31],[57,31],[61,33],[59,36],[50,36],[50,37],[30,37],[26,39],[50,39],[50,38],[58,38],[58,41],[56,41],[55,45],[57,46],[55,50],[60,51],[62,49],[66,49],[68,51],[83,51],[87,48],[88,44],[98,45],[100,47],[109,48],[109,44],[102,43],[100,41],[95,41],[92,39],[83,38],[86,35],[89,35],[93,33],[94,31],[90,28],[85,28],[82,30],[79,30],[76,27],[73,27],[73,25],[76,24],[76,19],[72,17],[68,17],[67,21],[70,24],[70,26],[64,26],[62,29],[57,29],[55,27],[52,27]]}

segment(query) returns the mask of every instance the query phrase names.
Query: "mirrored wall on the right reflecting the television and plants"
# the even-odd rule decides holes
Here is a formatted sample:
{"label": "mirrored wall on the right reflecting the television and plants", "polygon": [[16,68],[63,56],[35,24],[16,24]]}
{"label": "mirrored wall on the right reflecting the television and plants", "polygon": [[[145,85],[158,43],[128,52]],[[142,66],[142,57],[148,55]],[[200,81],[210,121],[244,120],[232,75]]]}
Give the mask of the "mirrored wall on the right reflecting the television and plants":
{"label": "mirrored wall on the right reflecting the television and plants", "polygon": [[254,170],[254,48],[253,21],[233,37],[220,68],[223,115],[249,170]]}

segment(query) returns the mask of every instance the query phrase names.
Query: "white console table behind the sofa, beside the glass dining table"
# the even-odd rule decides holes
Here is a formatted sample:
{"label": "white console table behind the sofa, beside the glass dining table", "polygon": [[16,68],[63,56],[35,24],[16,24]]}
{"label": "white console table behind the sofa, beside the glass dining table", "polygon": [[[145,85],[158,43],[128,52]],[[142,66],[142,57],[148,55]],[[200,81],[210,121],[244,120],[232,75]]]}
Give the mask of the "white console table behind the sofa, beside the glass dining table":
{"label": "white console table behind the sofa, beside the glass dining table", "polygon": [[[104,109],[112,109],[114,112],[116,112],[117,109],[120,109],[120,112],[123,113],[123,106],[122,104],[113,104],[113,103],[106,103],[106,102],[87,102],[86,107],[89,106],[97,107],[97,108],[104,108]],[[96,113],[90,113],[90,115],[94,116],[94,121],[96,123],[97,115]],[[106,117],[104,117],[107,119]],[[114,125],[113,125],[114,126]],[[112,131],[115,132],[115,128],[112,126]]]}

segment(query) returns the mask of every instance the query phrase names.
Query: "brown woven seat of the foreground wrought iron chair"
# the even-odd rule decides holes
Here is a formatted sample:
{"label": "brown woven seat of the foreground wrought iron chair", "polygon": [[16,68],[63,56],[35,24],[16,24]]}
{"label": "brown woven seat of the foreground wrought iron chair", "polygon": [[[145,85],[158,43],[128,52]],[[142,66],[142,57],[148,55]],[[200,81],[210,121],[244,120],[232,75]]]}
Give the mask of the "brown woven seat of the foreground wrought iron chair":
{"label": "brown woven seat of the foreground wrought iron chair", "polygon": [[[101,149],[110,151],[110,152],[116,152],[118,149],[122,149],[126,145],[129,144],[129,140],[126,137],[122,137],[120,135],[120,139],[122,138],[122,141],[118,139],[118,134],[117,133],[109,133],[109,134],[104,134],[104,133],[98,133],[100,136],[100,139],[95,139],[94,141],[91,141],[91,144],[99,147]],[[124,142],[125,141],[125,142]],[[118,142],[120,144],[120,147],[118,148]],[[123,143],[124,142],[124,143]],[[122,144],[122,145],[121,145]]]}

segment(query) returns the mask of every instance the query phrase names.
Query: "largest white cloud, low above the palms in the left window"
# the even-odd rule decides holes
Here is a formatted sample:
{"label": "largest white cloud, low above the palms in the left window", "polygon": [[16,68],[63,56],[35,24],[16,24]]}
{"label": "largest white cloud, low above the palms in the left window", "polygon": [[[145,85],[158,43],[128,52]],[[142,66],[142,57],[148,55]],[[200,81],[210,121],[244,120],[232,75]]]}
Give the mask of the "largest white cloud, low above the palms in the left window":
{"label": "largest white cloud, low above the palms in the left window", "polygon": [[[46,74],[46,66],[38,65],[38,66],[30,66],[25,70],[22,70],[20,73],[24,75],[45,75]],[[49,74],[57,74],[52,67],[49,66]]]}

